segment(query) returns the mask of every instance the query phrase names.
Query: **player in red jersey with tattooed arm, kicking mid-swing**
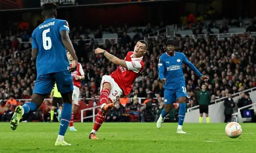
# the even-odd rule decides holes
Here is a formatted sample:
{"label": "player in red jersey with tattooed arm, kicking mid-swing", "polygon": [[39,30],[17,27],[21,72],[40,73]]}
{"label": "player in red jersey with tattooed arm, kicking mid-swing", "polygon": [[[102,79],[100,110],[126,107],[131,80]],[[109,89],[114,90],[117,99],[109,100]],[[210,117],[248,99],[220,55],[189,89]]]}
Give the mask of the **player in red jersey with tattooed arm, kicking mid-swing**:
{"label": "player in red jersey with tattooed arm, kicking mid-swing", "polygon": [[98,139],[96,133],[104,122],[107,112],[114,107],[120,97],[126,96],[132,90],[132,84],[140,76],[144,68],[143,54],[147,51],[147,42],[140,40],[129,51],[124,60],[120,60],[107,51],[97,48],[95,54],[103,54],[112,63],[119,65],[110,75],[102,76],[100,84],[100,111],[98,112],[89,139]]}

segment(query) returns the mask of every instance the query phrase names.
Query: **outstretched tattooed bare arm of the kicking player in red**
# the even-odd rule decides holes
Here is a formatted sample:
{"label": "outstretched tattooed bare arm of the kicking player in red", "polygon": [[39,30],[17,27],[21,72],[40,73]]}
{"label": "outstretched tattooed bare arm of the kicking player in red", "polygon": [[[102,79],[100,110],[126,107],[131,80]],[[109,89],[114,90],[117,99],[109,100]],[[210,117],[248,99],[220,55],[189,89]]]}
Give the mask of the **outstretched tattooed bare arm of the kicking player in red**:
{"label": "outstretched tattooed bare arm of the kicking player in red", "polygon": [[111,53],[108,53],[104,49],[97,48],[95,49],[95,54],[102,53],[110,62],[116,64],[116,65],[121,65],[122,67],[127,68],[126,61],[125,60],[120,60],[116,56],[112,55]]}

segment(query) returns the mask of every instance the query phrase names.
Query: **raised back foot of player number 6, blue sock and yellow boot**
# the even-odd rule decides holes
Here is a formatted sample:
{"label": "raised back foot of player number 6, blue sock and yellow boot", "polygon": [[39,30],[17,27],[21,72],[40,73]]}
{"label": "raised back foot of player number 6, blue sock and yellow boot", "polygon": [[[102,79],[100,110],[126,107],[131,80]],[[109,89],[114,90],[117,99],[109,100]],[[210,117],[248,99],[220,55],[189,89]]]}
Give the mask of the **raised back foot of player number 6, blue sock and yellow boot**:
{"label": "raised back foot of player number 6, blue sock and yellow boot", "polygon": [[17,129],[17,126],[19,125],[19,120],[21,119],[23,114],[27,114],[29,111],[34,111],[36,109],[37,107],[34,102],[26,102],[23,106],[17,106],[10,121],[11,129]]}

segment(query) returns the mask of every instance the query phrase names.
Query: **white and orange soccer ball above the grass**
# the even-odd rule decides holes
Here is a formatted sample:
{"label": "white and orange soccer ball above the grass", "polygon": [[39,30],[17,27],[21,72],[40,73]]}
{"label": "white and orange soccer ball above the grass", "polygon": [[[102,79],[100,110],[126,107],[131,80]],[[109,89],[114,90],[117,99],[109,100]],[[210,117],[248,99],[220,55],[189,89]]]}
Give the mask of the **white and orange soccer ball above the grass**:
{"label": "white and orange soccer ball above the grass", "polygon": [[225,132],[230,138],[237,138],[242,134],[242,127],[236,122],[230,122],[225,127]]}

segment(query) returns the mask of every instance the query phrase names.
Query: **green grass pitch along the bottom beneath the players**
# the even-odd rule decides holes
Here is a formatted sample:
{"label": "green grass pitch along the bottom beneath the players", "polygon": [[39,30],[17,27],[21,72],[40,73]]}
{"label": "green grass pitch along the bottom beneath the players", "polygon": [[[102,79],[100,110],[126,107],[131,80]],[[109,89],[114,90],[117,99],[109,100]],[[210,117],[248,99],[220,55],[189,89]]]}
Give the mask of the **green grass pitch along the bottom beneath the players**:
{"label": "green grass pitch along the bottom beneath the players", "polygon": [[20,123],[12,131],[0,123],[0,153],[256,153],[256,123],[242,123],[242,135],[231,139],[225,123],[184,123],[187,134],[176,134],[178,123],[103,123],[98,140],[88,139],[93,123],[74,123],[67,131],[72,146],[54,146],[59,123]]}

